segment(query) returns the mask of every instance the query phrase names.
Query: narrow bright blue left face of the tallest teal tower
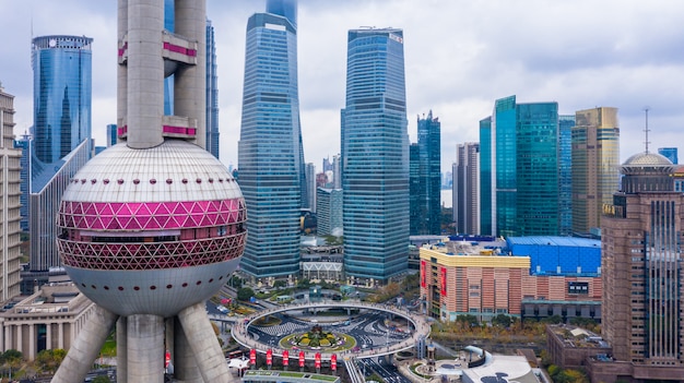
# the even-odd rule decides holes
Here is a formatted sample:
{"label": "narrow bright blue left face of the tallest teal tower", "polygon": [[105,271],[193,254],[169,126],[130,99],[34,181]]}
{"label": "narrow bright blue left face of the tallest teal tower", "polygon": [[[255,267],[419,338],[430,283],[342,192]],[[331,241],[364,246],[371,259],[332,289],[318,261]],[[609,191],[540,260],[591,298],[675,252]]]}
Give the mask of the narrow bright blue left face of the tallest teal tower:
{"label": "narrow bright blue left face of the tallest teal tower", "polygon": [[497,99],[492,119],[494,139],[493,231],[496,236],[516,232],[518,177],[516,173],[516,96]]}

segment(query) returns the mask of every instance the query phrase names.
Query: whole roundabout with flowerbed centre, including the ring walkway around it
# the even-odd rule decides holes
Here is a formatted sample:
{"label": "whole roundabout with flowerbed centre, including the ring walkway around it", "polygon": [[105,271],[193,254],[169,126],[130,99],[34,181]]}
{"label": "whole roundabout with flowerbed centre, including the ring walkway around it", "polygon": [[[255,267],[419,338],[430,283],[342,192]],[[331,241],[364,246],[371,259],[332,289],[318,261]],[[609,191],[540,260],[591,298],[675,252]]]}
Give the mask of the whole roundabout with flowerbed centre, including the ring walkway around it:
{"label": "whole roundabout with flowerbed centre, including the ring walkway around it", "polygon": [[[338,315],[322,315],[338,310]],[[241,319],[231,330],[243,347],[273,357],[304,355],[306,360],[364,359],[412,350],[429,335],[418,314],[387,304],[320,301],[281,306]]]}

